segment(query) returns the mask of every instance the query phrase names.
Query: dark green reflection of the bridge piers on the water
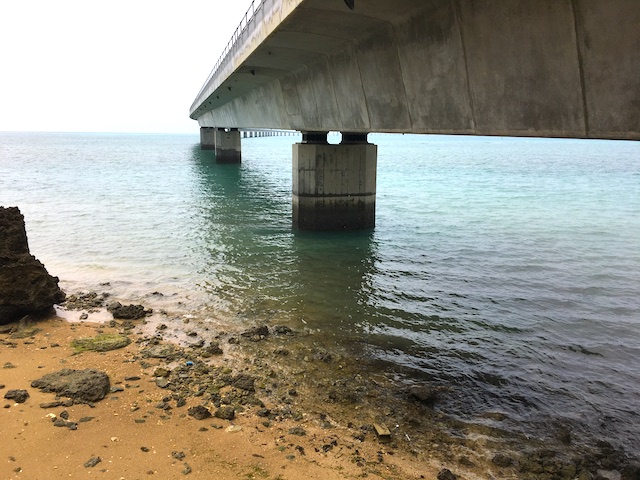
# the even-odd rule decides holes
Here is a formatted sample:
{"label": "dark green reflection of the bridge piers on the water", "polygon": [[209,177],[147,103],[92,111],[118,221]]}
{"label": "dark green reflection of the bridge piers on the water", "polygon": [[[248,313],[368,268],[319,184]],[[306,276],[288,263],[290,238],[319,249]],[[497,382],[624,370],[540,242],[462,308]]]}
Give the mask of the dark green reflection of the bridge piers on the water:
{"label": "dark green reflection of the bridge piers on the water", "polygon": [[[290,193],[245,164],[194,148],[201,189],[204,288],[230,317],[277,317],[357,333],[376,263],[372,231],[291,229]],[[275,192],[275,194],[274,194]],[[336,241],[339,240],[339,241]]]}

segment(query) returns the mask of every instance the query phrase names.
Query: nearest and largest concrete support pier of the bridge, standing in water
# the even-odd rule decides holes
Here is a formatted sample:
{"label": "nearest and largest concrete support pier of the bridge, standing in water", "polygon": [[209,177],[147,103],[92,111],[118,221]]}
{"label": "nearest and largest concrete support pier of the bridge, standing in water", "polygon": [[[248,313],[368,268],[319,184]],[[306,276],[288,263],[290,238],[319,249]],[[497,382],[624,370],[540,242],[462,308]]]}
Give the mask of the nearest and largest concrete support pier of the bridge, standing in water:
{"label": "nearest and largest concrete support pier of the bridge, standing in water", "polygon": [[329,145],[327,132],[303,132],[302,142],[293,145],[295,228],[375,226],[378,147],[367,142],[367,134],[343,134],[345,138],[349,142]]}

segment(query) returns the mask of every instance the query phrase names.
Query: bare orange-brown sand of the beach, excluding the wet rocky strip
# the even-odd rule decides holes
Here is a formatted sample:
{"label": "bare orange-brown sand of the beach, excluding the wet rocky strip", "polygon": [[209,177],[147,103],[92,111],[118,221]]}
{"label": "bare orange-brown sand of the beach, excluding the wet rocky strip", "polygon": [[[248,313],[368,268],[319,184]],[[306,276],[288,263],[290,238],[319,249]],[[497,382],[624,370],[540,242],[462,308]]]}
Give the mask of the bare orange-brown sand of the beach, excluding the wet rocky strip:
{"label": "bare orange-brown sand of the beach, excluding the wet rocky strip", "polygon": [[[130,330],[128,335],[135,340],[124,348],[73,354],[73,339],[121,333],[120,322],[71,323],[53,317],[32,327],[38,331],[22,339],[0,334],[5,365],[0,393],[25,389],[30,395],[24,403],[3,401],[2,424],[8,441],[3,447],[1,478],[86,478],[90,473],[90,478],[126,479],[150,475],[342,479],[366,472],[369,478],[400,479],[435,478],[438,473],[437,466],[415,465],[378,442],[350,438],[353,429],[329,417],[324,418],[330,426],[320,425],[311,413],[279,414],[269,420],[257,413],[274,406],[269,401],[265,407],[239,408],[233,420],[215,416],[196,420],[188,414],[189,408],[205,403],[214,412],[215,407],[203,402],[201,395],[185,397],[178,407],[171,390],[159,386],[157,380],[162,377],[154,376],[157,369],[189,362],[184,362],[183,352],[175,349],[177,357],[170,359],[145,358],[138,343],[141,335]],[[247,371],[240,362],[228,357],[216,361],[225,372],[234,367]],[[55,395],[32,388],[31,381],[61,368],[104,371],[111,390],[94,405],[41,408]],[[223,387],[227,393],[232,389]],[[90,420],[77,423],[76,430],[57,428],[51,414],[60,417],[63,411],[70,421]],[[97,457],[101,461],[95,467],[84,466]]]}

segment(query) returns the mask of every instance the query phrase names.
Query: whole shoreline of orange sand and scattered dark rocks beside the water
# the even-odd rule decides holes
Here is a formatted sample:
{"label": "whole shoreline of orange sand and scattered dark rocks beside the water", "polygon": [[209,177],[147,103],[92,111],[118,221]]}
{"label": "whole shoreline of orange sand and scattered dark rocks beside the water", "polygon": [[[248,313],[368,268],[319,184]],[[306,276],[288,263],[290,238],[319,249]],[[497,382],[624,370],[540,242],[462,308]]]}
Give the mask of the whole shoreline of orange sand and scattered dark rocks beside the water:
{"label": "whole shoreline of orange sand and scattered dark rocks beside the water", "polygon": [[[434,408],[436,389],[399,391],[393,379],[368,374],[353,351],[336,351],[330,339],[309,332],[278,325],[241,331],[189,318],[175,325],[166,313],[111,320],[102,306],[88,304],[59,313],[75,317],[80,311],[88,312],[86,320],[53,317],[38,322],[41,331],[24,339],[0,335],[5,365],[16,367],[3,370],[0,393],[26,389],[31,395],[24,404],[5,404],[11,445],[26,442],[27,448],[5,455],[15,461],[3,464],[2,478],[73,478],[85,474],[84,463],[95,455],[102,460],[95,478],[127,479],[215,474],[223,479],[587,480],[600,475],[615,480],[636,478],[629,475],[640,471],[633,470],[633,462],[621,464],[628,459],[607,445],[593,452],[576,445],[561,449],[449,418]],[[124,334],[132,342],[108,352],[73,354],[73,339],[98,333]],[[63,409],[41,409],[39,404],[54,396],[30,387],[60,368],[95,368],[111,379],[112,391],[94,408],[67,409],[72,419],[95,418],[78,424],[77,431],[53,427],[46,415]],[[125,380],[132,378],[139,380]],[[238,378],[249,387],[238,386]],[[198,406],[213,416],[195,420],[188,412]],[[215,417],[219,411],[223,418]],[[379,427],[390,435],[379,435]],[[59,441],[73,454],[52,460],[52,453],[44,452]],[[43,453],[19,453],[27,451]],[[184,457],[178,459],[180,452]],[[49,468],[52,463],[56,468]]]}

